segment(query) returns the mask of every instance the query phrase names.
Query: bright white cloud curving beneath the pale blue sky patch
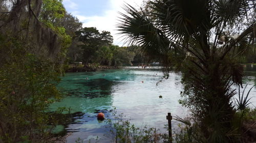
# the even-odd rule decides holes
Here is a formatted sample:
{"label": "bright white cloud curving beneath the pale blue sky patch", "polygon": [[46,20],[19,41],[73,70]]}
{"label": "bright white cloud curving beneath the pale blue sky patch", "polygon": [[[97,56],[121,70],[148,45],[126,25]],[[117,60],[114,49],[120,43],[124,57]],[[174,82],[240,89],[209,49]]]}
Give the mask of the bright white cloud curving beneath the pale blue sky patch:
{"label": "bright white cloud curving beneath the pale blue sky patch", "polygon": [[[64,1],[71,4],[70,7],[73,7],[73,2],[71,2],[71,0]],[[79,15],[79,11],[77,10],[71,13],[81,22],[83,22],[84,27],[96,27],[99,31],[111,32],[112,36],[114,37],[114,44],[122,46],[122,38],[120,38],[120,35],[117,35],[118,31],[116,31],[116,24],[118,23],[118,17],[120,16],[118,12],[124,12],[122,7],[125,5],[125,3],[134,7],[139,7],[141,6],[142,2],[143,0],[110,0],[111,7],[106,10],[102,16]]]}

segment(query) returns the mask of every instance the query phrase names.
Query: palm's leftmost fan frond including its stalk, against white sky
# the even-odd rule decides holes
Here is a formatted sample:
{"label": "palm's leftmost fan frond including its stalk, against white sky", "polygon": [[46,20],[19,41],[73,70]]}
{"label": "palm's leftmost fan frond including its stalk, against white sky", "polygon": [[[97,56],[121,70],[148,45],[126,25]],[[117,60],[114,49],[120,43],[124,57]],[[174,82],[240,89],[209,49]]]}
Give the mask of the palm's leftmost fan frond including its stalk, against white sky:
{"label": "palm's leftmost fan frond including its stalk, against white sky", "polygon": [[126,43],[139,45],[151,59],[160,58],[164,67],[167,67],[167,70],[164,69],[166,71],[171,61],[174,60],[173,56],[176,56],[175,60],[179,60],[177,56],[181,59],[185,58],[186,51],[176,43],[170,42],[165,33],[146,14],[129,4],[124,6],[124,10],[126,13],[120,13],[117,28]]}

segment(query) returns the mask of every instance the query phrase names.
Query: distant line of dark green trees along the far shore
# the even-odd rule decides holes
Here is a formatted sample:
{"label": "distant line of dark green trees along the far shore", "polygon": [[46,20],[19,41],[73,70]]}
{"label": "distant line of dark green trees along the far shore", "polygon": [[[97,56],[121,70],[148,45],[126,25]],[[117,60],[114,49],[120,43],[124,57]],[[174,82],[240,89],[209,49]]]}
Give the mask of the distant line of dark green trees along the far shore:
{"label": "distant line of dark green trees along the far shore", "polygon": [[69,64],[82,62],[83,65],[123,66],[148,62],[139,46],[113,45],[111,33],[99,32],[96,27],[77,30],[67,55]]}

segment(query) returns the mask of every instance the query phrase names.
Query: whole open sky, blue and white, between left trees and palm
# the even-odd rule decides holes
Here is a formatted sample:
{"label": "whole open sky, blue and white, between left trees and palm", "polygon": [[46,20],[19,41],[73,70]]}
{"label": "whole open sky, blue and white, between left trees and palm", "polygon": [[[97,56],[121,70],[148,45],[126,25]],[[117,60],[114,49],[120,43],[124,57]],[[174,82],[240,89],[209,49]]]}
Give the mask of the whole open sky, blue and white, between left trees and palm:
{"label": "whole open sky, blue and white, between left trees and palm", "polygon": [[139,7],[143,0],[63,0],[67,12],[83,22],[83,27],[96,27],[99,31],[109,31],[114,45],[123,46],[123,38],[118,35],[116,25],[118,12],[124,13],[125,3]]}

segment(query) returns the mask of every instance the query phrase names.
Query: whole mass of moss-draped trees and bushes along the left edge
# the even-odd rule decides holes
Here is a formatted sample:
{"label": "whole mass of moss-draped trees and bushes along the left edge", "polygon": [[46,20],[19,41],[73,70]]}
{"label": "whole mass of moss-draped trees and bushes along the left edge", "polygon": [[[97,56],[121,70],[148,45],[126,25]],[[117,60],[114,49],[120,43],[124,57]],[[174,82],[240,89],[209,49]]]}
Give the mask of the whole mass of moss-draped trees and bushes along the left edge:
{"label": "whole mass of moss-draped trees and bushes along the left edge", "polygon": [[56,84],[71,42],[55,21],[66,11],[61,1],[0,4],[0,142],[49,142],[46,112],[60,98]]}

